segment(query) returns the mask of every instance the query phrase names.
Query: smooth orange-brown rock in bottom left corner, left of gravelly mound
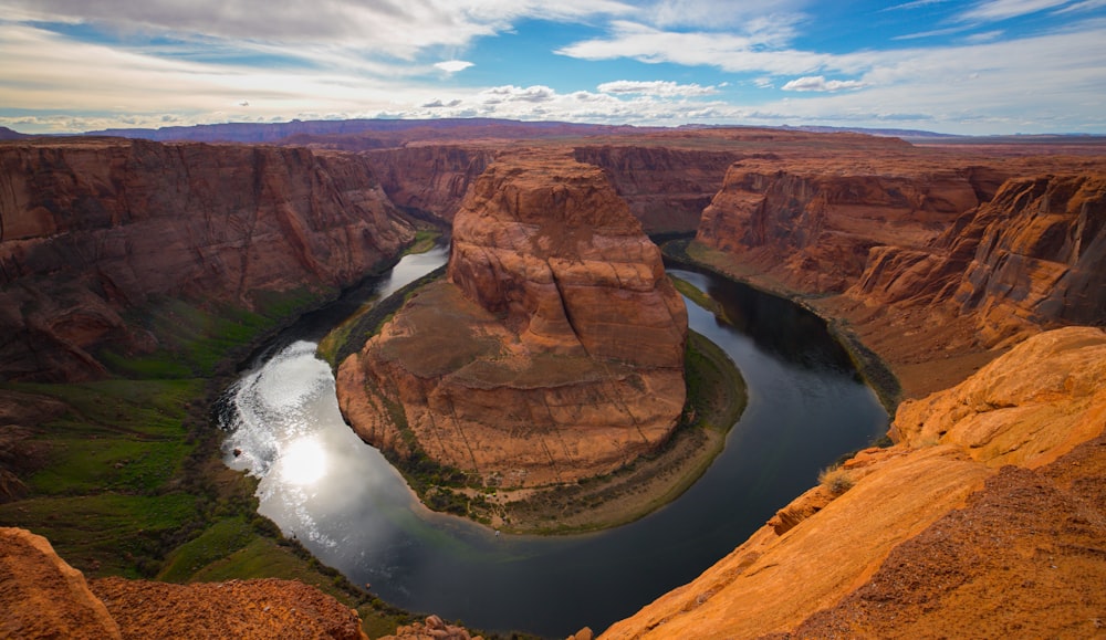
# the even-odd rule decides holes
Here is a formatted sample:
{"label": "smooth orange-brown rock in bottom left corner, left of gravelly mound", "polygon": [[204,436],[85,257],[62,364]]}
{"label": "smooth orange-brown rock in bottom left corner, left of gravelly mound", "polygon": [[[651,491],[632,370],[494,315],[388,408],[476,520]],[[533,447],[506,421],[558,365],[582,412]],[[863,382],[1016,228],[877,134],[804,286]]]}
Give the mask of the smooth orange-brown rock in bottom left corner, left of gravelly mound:
{"label": "smooth orange-brown rock in bottom left corner, left of gravelly mound", "polygon": [[0,527],[0,637],[122,638],[85,583],[42,536]]}

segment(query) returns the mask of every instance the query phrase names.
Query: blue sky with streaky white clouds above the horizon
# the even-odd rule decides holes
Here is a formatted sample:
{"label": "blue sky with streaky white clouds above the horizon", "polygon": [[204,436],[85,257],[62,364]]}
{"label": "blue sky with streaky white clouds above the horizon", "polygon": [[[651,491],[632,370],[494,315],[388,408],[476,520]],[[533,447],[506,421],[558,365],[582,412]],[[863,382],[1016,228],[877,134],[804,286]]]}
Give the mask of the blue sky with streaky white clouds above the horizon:
{"label": "blue sky with streaky white clouds above the horizon", "polygon": [[1106,0],[0,0],[0,126],[1106,134]]}

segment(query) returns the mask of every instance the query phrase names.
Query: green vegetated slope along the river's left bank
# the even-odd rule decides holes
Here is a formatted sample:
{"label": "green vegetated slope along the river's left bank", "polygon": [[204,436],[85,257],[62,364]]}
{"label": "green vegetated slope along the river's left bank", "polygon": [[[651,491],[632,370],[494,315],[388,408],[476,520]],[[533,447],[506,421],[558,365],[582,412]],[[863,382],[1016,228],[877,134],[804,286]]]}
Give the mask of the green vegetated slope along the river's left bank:
{"label": "green vegetated slope along the river's left bank", "polygon": [[[420,233],[417,244],[432,245],[435,238]],[[150,301],[127,319],[156,336],[157,348],[137,356],[95,353],[109,379],[0,382],[0,391],[56,408],[20,429],[14,449],[6,451],[25,495],[0,503],[0,523],[45,536],[90,578],[299,579],[357,608],[373,637],[413,621],[285,539],[258,515],[255,480],[221,460],[212,407],[236,365],[336,294],[252,292],[252,311]]]}

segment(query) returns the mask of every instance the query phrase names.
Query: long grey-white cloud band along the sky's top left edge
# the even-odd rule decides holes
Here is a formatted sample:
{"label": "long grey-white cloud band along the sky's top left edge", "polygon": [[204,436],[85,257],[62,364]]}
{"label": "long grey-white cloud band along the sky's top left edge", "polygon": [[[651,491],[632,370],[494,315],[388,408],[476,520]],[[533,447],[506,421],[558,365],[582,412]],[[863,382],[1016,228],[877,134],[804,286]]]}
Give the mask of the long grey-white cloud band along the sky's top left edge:
{"label": "long grey-white cloud band along the sky's top left edge", "polygon": [[411,60],[463,48],[523,19],[580,21],[620,15],[617,0],[4,0],[8,20],[90,23],[117,33],[186,40],[311,45]]}

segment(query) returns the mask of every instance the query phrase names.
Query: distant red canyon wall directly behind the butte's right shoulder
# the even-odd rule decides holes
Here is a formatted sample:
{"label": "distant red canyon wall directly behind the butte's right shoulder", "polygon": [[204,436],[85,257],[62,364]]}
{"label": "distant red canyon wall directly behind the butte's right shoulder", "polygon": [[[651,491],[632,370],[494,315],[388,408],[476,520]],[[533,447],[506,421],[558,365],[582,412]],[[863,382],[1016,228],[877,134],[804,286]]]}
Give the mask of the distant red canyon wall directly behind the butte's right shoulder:
{"label": "distant red canyon wall directly behind the butte's right shoulder", "polygon": [[722,186],[740,151],[666,146],[597,145],[573,150],[580,162],[603,167],[646,233],[690,233]]}

